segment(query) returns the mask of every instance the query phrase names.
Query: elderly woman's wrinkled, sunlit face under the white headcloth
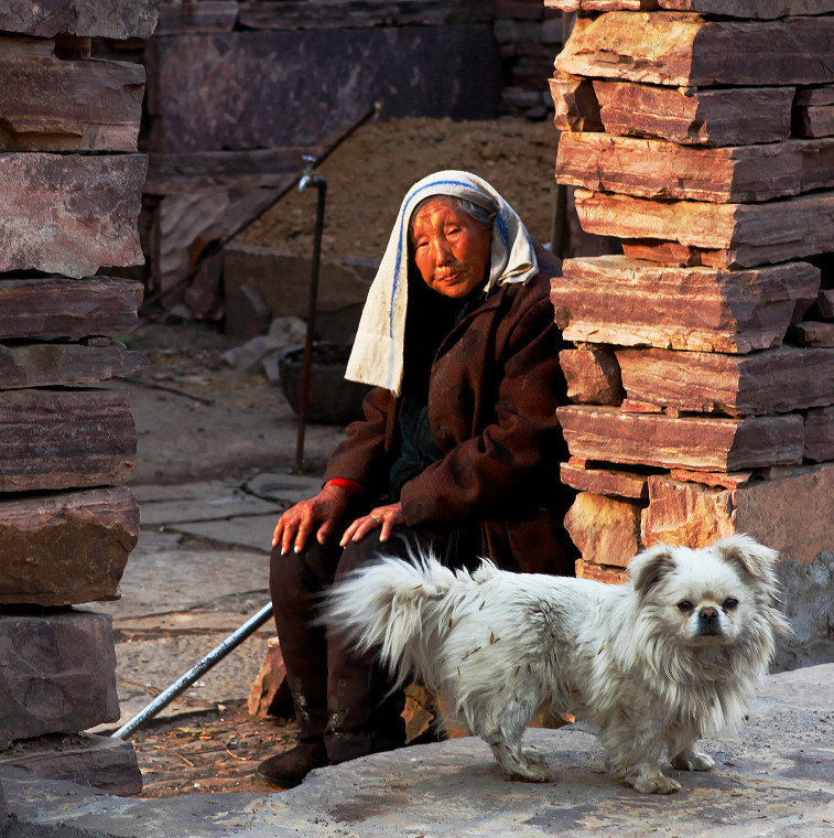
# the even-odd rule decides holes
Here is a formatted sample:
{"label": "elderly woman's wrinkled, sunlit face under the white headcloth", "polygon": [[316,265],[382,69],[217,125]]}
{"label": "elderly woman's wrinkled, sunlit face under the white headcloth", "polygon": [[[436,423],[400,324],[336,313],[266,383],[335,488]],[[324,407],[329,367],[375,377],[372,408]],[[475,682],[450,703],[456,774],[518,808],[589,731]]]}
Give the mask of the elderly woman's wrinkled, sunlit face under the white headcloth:
{"label": "elderly woman's wrinkled, sunlit face under the white headcloth", "polygon": [[414,264],[444,297],[468,297],[486,279],[492,234],[447,197],[426,202],[411,219]]}

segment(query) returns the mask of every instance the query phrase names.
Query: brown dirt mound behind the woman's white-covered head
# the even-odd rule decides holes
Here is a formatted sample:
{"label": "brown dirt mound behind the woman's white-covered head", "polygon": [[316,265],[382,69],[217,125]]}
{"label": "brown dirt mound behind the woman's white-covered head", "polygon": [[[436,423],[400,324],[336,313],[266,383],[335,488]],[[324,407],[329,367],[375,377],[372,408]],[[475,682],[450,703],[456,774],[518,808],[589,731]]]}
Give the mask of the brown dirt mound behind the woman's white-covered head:
{"label": "brown dirt mound behind the woman's white-covered head", "polygon": [[[407,118],[365,125],[317,169],[327,179],[322,258],[379,259],[405,192],[442,169],[464,169],[489,181],[533,238],[549,241],[557,142],[550,119]],[[306,256],[313,247],[315,205],[314,189],[292,191],[238,240]]]}

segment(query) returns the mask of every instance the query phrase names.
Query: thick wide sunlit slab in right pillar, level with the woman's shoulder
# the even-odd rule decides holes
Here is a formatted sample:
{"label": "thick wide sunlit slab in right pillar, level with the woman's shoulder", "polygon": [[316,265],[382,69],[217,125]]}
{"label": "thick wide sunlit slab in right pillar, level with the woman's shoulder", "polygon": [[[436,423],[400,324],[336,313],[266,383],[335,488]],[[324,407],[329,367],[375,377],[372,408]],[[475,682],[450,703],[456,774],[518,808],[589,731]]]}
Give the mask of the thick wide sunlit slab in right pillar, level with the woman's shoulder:
{"label": "thick wide sunlit slab in right pillar, level with the woman's shoulder", "polygon": [[806,262],[726,271],[600,256],[566,259],[563,270],[551,300],[566,340],[703,352],[779,346],[820,282]]}

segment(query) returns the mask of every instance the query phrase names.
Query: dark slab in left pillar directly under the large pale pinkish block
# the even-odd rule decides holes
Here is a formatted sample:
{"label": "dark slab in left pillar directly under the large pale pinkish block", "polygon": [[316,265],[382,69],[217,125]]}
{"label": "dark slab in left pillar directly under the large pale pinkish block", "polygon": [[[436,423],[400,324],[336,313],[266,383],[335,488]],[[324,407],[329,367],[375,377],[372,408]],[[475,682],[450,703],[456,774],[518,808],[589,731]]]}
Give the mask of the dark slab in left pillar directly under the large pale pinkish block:
{"label": "dark slab in left pillar directly under the large pale pinkish block", "polygon": [[[108,277],[0,279],[0,340],[130,334],[139,325],[143,292],[141,282]],[[76,362],[83,355],[75,352]]]}

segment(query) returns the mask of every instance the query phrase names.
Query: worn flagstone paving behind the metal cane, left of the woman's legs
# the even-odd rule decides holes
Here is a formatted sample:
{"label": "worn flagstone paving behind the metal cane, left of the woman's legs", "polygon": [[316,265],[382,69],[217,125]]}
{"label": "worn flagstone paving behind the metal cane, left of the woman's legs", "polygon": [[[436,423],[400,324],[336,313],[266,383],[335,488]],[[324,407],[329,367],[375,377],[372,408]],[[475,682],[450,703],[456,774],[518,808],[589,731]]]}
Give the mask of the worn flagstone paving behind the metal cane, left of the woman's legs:
{"label": "worn flagstone paving behind the metal cane, left of the woman's legs", "polygon": [[[141,533],[113,619],[121,718],[132,718],[269,602],[269,551],[283,508],[321,480],[261,473],[246,481],[137,485]],[[246,699],[274,635],[272,622],[206,673],[159,718]]]}

